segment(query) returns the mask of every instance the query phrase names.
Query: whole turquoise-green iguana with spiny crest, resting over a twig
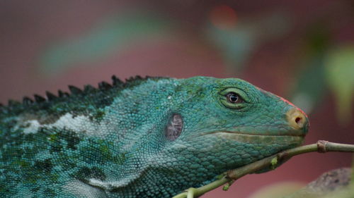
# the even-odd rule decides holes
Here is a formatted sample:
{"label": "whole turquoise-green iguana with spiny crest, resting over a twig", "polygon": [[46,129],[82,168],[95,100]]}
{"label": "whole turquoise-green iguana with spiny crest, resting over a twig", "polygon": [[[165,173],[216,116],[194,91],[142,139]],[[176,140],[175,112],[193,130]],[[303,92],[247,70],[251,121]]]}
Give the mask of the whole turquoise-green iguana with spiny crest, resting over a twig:
{"label": "whole turquoise-green iguana with spiny crest, resting over a twig", "polygon": [[236,78],[130,78],[0,107],[0,197],[172,197],[301,144],[307,116]]}

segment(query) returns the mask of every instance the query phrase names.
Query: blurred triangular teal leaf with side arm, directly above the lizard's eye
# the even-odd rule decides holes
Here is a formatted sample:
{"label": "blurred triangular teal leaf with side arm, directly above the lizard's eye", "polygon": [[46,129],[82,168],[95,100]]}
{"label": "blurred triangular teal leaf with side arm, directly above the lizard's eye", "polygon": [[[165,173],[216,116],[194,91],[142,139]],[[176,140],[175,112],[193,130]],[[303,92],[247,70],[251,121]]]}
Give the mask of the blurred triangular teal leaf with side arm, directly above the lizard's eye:
{"label": "blurred triangular teal leaf with side arm, directly above the lizard's eye", "polygon": [[292,24],[285,14],[275,12],[259,18],[239,18],[234,27],[227,29],[213,23],[207,25],[207,39],[229,66],[227,72],[236,73],[244,68],[258,46],[284,35]]}

